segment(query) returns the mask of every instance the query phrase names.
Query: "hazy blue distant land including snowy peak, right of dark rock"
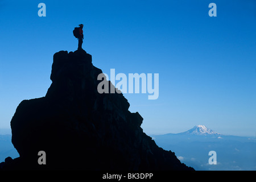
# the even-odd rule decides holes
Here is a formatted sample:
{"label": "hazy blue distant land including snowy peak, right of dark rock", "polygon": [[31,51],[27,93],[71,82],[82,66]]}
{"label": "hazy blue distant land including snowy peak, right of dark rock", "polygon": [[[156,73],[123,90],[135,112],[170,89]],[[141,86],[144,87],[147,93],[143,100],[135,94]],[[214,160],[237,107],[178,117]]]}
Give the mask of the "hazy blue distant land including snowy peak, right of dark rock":
{"label": "hazy blue distant land including snowy peak, right of dark rock", "polygon": [[[151,135],[159,147],[196,170],[256,170],[256,138],[222,135],[197,125],[178,134]],[[210,165],[209,151],[216,151],[217,164]]]}

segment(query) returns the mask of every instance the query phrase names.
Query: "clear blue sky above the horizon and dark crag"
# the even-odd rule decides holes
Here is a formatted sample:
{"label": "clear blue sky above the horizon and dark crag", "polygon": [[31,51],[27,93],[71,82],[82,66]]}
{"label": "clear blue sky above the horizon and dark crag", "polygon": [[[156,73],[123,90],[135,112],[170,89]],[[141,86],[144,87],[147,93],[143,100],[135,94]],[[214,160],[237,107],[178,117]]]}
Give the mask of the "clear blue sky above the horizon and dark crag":
{"label": "clear blue sky above the horizon and dark crag", "polygon": [[72,30],[83,23],[83,48],[103,72],[159,73],[158,100],[125,94],[145,133],[202,124],[256,135],[255,0],[0,0],[0,17],[0,128],[22,100],[45,96],[53,54],[76,50]]}

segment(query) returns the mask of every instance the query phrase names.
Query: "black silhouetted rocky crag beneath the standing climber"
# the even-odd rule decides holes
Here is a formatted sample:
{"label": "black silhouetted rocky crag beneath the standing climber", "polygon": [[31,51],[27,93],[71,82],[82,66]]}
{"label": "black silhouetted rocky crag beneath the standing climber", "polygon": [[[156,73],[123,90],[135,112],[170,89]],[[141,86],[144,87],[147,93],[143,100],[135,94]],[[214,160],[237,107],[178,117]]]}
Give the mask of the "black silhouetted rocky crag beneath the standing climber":
{"label": "black silhouetted rocky crag beneath the standing climber", "polygon": [[[46,96],[22,101],[11,120],[20,157],[0,167],[192,170],[143,133],[143,118],[130,113],[122,93],[98,93],[100,73],[83,50],[55,53]],[[46,165],[38,164],[39,151],[46,152]]]}

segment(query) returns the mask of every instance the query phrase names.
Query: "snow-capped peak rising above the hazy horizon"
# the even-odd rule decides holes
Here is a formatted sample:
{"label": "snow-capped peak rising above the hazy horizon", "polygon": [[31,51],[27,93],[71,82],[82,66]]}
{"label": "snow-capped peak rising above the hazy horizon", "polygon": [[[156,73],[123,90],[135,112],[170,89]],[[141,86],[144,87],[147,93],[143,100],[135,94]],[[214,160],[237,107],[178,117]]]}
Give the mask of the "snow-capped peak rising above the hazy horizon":
{"label": "snow-capped peak rising above the hazy horizon", "polygon": [[192,129],[185,131],[180,134],[185,134],[185,135],[222,135],[220,133],[217,133],[211,129],[208,129],[204,125],[196,125]]}

